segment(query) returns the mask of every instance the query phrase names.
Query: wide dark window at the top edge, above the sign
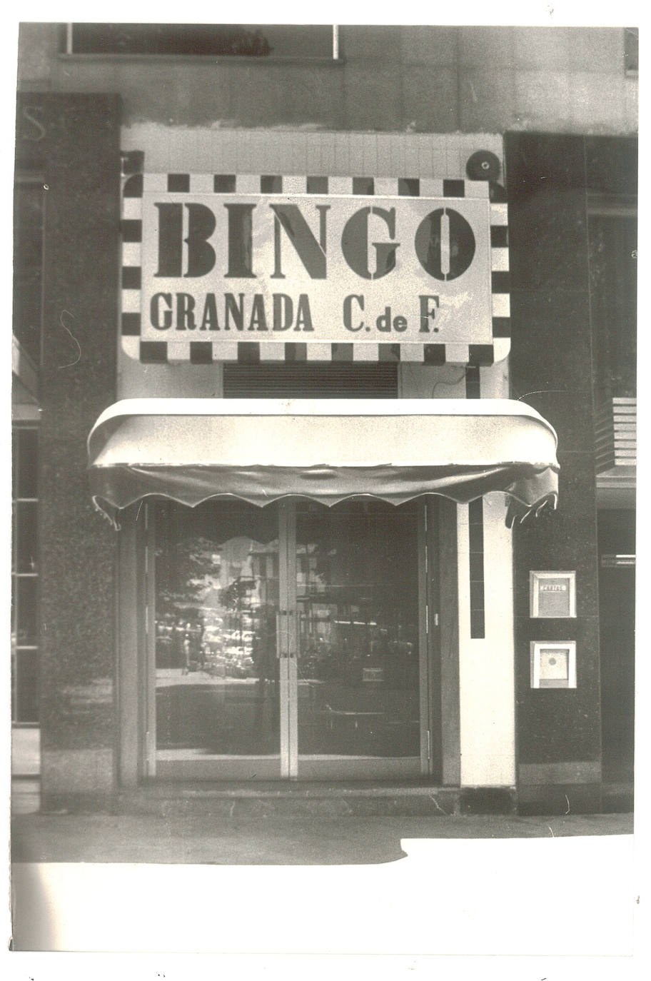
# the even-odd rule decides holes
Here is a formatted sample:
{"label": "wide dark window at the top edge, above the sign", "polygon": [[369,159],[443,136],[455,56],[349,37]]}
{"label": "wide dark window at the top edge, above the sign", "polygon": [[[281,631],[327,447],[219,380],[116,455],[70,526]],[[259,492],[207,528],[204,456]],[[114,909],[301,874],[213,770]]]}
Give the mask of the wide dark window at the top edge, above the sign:
{"label": "wide dark window at the top edge, above the sign", "polygon": [[70,24],[67,54],[336,58],[331,25]]}

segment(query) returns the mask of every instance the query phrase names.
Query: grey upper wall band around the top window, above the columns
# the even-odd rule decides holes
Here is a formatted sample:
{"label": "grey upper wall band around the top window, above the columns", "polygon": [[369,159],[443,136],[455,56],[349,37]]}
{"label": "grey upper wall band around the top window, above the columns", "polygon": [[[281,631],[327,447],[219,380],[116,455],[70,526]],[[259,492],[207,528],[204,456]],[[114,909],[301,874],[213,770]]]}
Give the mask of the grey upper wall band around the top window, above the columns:
{"label": "grey upper wall band around the top window, above the columns", "polygon": [[624,27],[341,26],[338,63],[219,64],[61,57],[58,29],[21,26],[21,83],[119,92],[131,123],[422,132],[637,127]]}

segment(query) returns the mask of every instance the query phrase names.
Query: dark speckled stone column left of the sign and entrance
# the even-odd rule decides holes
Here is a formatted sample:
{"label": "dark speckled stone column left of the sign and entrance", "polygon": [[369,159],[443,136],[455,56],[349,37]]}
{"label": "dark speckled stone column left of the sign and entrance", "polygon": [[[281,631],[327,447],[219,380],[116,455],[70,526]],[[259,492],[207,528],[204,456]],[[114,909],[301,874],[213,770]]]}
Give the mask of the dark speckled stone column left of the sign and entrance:
{"label": "dark speckled stone column left of the sign and entrance", "polygon": [[85,440],[116,391],[120,102],[52,94],[27,103],[44,129],[47,188],[39,536],[48,809],[116,787],[117,539],[90,500]]}

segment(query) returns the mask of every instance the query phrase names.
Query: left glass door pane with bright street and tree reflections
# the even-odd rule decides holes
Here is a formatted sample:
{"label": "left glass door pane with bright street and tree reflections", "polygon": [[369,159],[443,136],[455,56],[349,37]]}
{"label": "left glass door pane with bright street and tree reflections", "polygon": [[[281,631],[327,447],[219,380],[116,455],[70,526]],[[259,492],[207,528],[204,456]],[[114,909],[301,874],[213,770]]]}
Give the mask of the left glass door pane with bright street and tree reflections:
{"label": "left glass door pane with bright street and tree reflections", "polygon": [[280,775],[277,508],[157,505],[156,773]]}

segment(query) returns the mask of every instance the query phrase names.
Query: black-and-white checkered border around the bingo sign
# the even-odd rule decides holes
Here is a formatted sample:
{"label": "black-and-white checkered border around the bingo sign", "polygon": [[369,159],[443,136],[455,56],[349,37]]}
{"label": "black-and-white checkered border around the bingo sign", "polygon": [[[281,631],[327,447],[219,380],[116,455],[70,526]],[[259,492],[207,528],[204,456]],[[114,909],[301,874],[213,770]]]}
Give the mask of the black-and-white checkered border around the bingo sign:
{"label": "black-and-white checkered border around the bingo sign", "polygon": [[[508,212],[502,188],[491,193],[486,181],[430,178],[297,177],[243,174],[130,174],[123,178],[122,345],[132,358],[147,364],[189,361],[405,361],[444,365],[490,365],[501,361],[511,345]],[[385,197],[490,198],[492,343],[278,343],[277,341],[167,341],[140,339],[142,195],[147,191],[189,194],[328,194]]]}

